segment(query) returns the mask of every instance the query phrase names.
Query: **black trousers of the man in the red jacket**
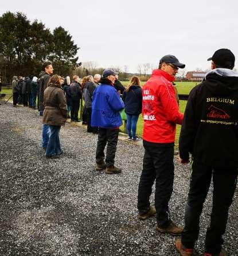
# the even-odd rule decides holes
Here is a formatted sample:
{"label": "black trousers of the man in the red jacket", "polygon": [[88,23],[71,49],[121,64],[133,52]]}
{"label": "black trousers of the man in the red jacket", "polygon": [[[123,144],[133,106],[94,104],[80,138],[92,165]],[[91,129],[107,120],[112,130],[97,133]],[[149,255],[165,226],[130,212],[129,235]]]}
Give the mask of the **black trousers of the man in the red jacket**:
{"label": "black trousers of the man in the red jacket", "polygon": [[155,181],[155,209],[157,223],[169,226],[169,200],[174,182],[174,143],[151,143],[143,140],[145,155],[138,188],[138,211],[146,213],[150,208],[150,195]]}

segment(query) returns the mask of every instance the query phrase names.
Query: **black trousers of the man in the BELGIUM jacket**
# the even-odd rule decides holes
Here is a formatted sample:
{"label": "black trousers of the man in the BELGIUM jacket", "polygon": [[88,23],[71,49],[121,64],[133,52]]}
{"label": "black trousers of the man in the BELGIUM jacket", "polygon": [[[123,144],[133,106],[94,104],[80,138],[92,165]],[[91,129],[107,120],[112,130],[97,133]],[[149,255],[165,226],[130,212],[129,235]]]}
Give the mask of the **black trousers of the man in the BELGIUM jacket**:
{"label": "black trousers of the man in the BELGIUM jacket", "polygon": [[219,253],[223,244],[222,235],[227,226],[228,210],[236,188],[237,168],[219,169],[193,162],[182,234],[184,246],[193,248],[198,238],[200,215],[212,177],[213,207],[205,240],[206,253],[210,254]]}

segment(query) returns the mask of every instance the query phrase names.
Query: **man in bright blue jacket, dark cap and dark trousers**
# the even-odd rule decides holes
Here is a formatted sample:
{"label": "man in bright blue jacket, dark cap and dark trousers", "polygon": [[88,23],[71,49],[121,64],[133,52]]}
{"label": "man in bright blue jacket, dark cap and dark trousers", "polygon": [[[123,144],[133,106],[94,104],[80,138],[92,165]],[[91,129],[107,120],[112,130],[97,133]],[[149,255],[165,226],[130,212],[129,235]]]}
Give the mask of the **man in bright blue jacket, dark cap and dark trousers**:
{"label": "man in bright blue jacket, dark cap and dark trousers", "polygon": [[[119,127],[122,125],[120,110],[124,103],[114,88],[116,72],[110,69],[104,70],[93,93],[92,100],[92,127],[99,127],[96,149],[96,170],[106,169],[106,174],[121,173],[122,169],[114,165],[116,145],[118,143]],[[107,144],[107,154],[104,162],[104,148]]]}

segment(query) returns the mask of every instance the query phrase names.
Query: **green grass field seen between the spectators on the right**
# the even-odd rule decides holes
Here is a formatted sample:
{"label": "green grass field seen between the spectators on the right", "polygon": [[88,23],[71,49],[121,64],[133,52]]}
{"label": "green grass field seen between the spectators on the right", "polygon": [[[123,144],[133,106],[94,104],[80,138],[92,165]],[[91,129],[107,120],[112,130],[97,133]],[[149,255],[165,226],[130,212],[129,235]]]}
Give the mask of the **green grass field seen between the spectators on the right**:
{"label": "green grass field seen between the spectators on the right", "polygon": [[[145,82],[142,82],[142,86],[144,85]],[[128,82],[123,81],[122,84],[124,86],[128,85]],[[178,90],[178,94],[189,94],[190,90],[193,89],[194,86],[197,85],[197,83],[194,82],[175,82],[175,85]],[[186,101],[180,101],[180,111],[184,113],[185,108],[186,108]],[[124,124],[120,127],[120,129],[123,131],[124,130]],[[178,139],[180,137],[180,129],[181,125],[177,125],[176,128],[176,135],[175,135],[175,146],[178,146]],[[139,116],[138,123],[137,123],[137,128],[136,128],[136,133],[138,136],[142,136],[143,133],[143,119],[142,115]]]}

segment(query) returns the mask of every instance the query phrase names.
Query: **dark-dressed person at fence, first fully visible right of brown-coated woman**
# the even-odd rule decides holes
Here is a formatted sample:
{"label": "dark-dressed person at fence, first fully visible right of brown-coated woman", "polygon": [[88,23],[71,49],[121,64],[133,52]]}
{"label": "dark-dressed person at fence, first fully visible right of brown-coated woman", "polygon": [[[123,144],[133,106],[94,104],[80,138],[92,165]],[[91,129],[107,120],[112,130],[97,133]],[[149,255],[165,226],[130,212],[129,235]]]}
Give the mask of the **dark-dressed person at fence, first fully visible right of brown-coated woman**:
{"label": "dark-dressed person at fence, first fully visible right of brown-coated woman", "polygon": [[74,75],[73,81],[69,86],[69,91],[71,93],[72,108],[71,108],[71,121],[79,122],[79,106],[82,94],[82,88],[79,82],[79,76]]}

